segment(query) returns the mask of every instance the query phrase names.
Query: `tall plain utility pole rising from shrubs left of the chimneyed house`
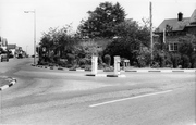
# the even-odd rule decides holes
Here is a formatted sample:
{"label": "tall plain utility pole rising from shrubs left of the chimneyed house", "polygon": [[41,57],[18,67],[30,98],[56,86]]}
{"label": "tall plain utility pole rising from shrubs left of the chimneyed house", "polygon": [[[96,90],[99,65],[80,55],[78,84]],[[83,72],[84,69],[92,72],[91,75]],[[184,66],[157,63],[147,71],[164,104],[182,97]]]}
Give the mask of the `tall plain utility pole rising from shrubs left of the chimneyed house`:
{"label": "tall plain utility pole rising from shrubs left of the chimneyed house", "polygon": [[154,38],[152,38],[152,5],[150,2],[150,42],[151,42],[151,63],[154,60]]}

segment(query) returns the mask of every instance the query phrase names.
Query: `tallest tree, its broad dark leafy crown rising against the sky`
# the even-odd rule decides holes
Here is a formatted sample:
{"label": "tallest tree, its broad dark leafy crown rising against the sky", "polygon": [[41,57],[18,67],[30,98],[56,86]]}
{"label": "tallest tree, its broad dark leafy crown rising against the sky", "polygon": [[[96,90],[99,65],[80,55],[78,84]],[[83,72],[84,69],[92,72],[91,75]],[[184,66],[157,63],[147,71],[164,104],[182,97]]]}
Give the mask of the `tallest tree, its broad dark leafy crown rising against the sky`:
{"label": "tallest tree, its broad dark leafy crown rising against the sky", "polygon": [[113,27],[126,16],[119,2],[102,2],[94,11],[88,11],[88,14],[89,17],[78,26],[82,36],[88,38],[115,36]]}

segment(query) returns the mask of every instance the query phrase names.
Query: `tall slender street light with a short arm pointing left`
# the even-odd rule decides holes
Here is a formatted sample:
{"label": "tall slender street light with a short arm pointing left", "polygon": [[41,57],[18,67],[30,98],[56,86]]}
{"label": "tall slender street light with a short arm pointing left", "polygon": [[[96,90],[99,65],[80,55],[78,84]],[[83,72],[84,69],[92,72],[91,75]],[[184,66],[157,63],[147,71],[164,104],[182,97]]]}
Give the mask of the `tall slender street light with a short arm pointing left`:
{"label": "tall slender street light with a short arm pointing left", "polygon": [[36,58],[36,10],[24,11],[24,13],[34,13],[34,65],[35,65],[35,58]]}

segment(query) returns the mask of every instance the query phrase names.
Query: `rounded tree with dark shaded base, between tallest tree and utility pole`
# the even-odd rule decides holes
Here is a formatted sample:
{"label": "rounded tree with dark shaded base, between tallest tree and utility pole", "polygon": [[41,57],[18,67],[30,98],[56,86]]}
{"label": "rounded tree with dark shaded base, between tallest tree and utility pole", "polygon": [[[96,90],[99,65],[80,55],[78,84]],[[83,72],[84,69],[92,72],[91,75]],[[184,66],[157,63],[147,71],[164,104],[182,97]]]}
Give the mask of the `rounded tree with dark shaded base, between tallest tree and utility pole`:
{"label": "rounded tree with dark shaded base, between tallest tree and utility pole", "polygon": [[[144,48],[149,47],[149,30],[145,26],[139,26],[136,21],[125,20],[114,27],[117,38],[107,46],[105,53],[111,57],[120,55],[131,60],[131,63],[138,62]],[[144,55],[146,57],[146,55]],[[139,59],[140,60],[140,59]],[[147,61],[148,62],[148,61]]]}

